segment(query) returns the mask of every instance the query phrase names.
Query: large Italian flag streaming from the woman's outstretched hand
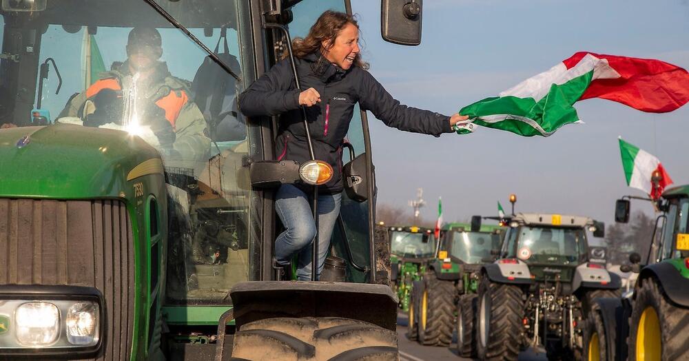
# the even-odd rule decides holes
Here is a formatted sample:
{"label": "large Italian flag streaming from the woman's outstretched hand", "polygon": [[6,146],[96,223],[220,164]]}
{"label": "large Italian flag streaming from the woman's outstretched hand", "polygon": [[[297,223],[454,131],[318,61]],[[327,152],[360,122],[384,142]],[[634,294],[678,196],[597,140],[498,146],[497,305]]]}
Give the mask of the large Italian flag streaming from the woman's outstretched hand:
{"label": "large Italian flag streaming from the woman's outstretched hand", "polygon": [[455,130],[466,134],[480,125],[521,136],[550,136],[562,125],[579,122],[573,105],[590,98],[643,112],[672,112],[689,101],[689,73],[659,60],[577,52],[500,96],[463,107],[460,114],[471,123]]}

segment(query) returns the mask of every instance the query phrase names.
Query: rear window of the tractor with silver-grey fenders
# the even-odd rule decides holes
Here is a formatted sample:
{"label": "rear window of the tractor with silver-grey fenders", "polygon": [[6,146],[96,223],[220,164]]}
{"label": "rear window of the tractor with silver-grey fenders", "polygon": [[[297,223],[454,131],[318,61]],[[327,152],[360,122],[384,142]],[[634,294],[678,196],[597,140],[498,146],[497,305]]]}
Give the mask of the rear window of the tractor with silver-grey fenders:
{"label": "rear window of the tractor with silver-grey fenders", "polygon": [[578,263],[586,258],[582,228],[520,227],[517,258],[527,263]]}

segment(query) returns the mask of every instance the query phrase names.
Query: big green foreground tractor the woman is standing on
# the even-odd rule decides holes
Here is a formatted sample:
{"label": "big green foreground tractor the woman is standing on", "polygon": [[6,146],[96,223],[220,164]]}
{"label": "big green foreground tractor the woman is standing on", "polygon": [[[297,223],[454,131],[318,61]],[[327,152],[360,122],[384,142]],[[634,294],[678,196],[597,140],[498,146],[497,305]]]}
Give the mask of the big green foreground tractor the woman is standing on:
{"label": "big green foreground tractor the woman is standing on", "polygon": [[[382,1],[382,36],[418,45],[420,3],[406,4]],[[349,128],[322,276],[338,282],[289,282],[273,256],[274,192],[317,183],[300,172],[313,161],[272,161],[278,116],[236,109],[327,9],[351,14],[349,0],[1,1],[0,358],[398,359],[366,112]],[[90,105],[58,116],[99,70],[122,65],[134,27],[161,33],[170,94],[210,108],[198,112],[204,154],[154,147],[141,129],[81,126]],[[190,82],[200,68],[218,82]],[[229,100],[205,107],[195,87]]]}

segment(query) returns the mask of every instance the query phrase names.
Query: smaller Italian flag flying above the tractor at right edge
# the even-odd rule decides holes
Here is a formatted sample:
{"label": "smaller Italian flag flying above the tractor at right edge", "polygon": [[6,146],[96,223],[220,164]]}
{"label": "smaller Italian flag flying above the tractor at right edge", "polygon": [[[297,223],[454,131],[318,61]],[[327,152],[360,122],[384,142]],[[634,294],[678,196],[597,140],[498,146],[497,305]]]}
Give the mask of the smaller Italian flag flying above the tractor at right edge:
{"label": "smaller Italian flag flying above the tractor at right edge", "polygon": [[[623,141],[619,138],[619,153],[622,156],[622,167],[629,187],[641,189],[652,199],[658,199],[666,186],[672,184],[670,175],[659,159],[648,154],[643,149]],[[658,186],[654,187],[652,177],[659,177]]]}

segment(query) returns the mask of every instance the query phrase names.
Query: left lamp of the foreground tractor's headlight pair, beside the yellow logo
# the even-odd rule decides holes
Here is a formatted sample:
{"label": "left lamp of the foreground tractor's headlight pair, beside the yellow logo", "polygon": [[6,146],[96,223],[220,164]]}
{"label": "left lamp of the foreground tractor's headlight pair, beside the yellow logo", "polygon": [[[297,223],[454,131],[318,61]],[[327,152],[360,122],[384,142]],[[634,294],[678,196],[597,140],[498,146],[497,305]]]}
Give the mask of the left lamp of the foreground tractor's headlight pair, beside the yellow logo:
{"label": "left lamp of the foreground tractor's headlight pair, beside the yellow logo", "polygon": [[17,341],[25,346],[48,346],[60,333],[60,311],[48,302],[26,302],[17,307]]}

